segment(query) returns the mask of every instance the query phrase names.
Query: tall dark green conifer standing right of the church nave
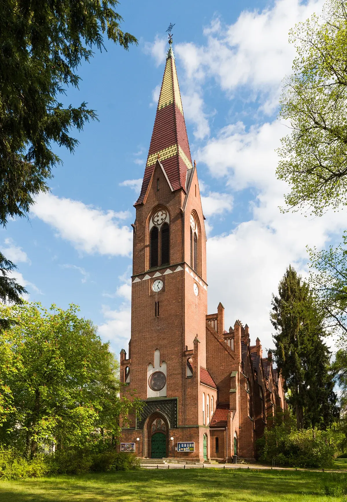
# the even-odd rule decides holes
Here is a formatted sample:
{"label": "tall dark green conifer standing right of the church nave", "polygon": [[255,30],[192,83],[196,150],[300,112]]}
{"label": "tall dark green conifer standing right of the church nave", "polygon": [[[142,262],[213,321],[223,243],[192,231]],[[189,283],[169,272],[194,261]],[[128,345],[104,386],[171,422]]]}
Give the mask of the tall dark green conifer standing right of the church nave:
{"label": "tall dark green conifer standing right of the church nave", "polygon": [[323,314],[308,284],[289,266],[273,295],[274,355],[298,429],[326,428],[338,415]]}

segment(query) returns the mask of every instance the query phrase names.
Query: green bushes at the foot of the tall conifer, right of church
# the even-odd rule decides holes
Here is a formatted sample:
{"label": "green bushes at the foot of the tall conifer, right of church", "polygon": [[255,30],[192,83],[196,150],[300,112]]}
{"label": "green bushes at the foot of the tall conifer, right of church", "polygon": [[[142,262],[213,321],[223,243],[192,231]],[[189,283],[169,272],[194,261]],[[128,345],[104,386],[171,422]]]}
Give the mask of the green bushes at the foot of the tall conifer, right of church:
{"label": "green bushes at the foot of the tall conifer, right of church", "polygon": [[331,431],[290,430],[285,425],[266,429],[258,440],[259,460],[293,467],[323,468],[333,465],[338,437]]}

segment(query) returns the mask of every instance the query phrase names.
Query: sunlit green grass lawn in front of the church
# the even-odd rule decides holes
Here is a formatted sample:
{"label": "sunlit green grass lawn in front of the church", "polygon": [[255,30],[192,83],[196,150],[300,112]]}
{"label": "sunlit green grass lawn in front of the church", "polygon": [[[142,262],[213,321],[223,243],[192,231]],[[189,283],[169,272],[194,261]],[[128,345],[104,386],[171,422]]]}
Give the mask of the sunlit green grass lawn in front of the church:
{"label": "sunlit green grass lawn in front of the church", "polygon": [[[337,502],[347,474],[242,469],[139,470],[0,482],[1,502]],[[347,499],[345,499],[347,500]]]}

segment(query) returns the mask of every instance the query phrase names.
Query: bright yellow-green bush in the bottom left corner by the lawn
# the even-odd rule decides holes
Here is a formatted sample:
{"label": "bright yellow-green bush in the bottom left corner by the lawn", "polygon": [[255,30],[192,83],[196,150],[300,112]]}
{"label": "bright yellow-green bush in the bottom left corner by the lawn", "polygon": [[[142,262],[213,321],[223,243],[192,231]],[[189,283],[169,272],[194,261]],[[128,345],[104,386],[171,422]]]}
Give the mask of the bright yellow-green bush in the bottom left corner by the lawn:
{"label": "bright yellow-green bush in the bottom left corner by the lawn", "polygon": [[0,446],[0,479],[15,480],[41,477],[48,472],[44,455],[26,460],[13,448]]}

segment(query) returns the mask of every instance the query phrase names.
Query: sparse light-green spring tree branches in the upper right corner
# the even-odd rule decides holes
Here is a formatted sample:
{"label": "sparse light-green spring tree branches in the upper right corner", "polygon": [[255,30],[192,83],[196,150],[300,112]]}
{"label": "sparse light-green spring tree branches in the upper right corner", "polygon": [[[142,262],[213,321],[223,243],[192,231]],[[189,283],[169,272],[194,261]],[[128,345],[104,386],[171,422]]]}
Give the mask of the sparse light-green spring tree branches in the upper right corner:
{"label": "sparse light-green spring tree branches in the upper right corner", "polygon": [[291,209],[347,204],[347,5],[328,0],[323,21],[313,15],[290,31],[297,57],[285,79],[280,117],[289,122],[282,139],[279,179],[291,186]]}

